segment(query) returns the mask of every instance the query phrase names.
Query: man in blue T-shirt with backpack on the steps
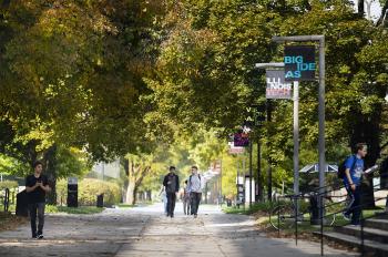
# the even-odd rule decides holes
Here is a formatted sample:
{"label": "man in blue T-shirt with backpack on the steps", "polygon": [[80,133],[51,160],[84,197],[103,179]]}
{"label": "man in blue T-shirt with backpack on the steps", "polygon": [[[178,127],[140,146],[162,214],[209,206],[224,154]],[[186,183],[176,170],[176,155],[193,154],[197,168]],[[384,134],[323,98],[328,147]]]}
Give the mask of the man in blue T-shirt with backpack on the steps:
{"label": "man in blue T-shirt with backpack on the steps", "polygon": [[351,225],[360,224],[360,184],[364,173],[364,157],[367,154],[367,145],[358,143],[356,145],[356,154],[349,156],[339,167],[338,176],[344,179],[344,185],[348,192],[349,204],[344,212],[344,218],[350,219]]}

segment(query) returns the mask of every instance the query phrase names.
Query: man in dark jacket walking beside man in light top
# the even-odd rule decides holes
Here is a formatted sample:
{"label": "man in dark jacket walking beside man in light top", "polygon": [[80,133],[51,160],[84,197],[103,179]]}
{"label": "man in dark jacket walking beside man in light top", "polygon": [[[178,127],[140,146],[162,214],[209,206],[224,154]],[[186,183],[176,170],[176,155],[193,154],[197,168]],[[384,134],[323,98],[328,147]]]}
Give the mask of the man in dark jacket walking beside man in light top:
{"label": "man in dark jacket walking beside man in light top", "polygon": [[170,173],[164,177],[163,185],[167,194],[167,217],[174,217],[176,193],[180,189],[180,178],[175,174],[174,166],[170,166]]}

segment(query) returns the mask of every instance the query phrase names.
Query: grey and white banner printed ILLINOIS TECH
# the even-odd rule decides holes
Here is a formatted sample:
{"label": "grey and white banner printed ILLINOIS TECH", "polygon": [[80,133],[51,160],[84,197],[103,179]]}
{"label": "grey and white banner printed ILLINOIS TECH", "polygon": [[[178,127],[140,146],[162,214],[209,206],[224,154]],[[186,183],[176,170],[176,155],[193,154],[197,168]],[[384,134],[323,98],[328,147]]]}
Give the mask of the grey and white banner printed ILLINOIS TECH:
{"label": "grey and white banner printed ILLINOIS TECH", "polygon": [[293,86],[290,82],[286,82],[284,70],[267,70],[266,71],[267,90],[266,99],[292,99]]}

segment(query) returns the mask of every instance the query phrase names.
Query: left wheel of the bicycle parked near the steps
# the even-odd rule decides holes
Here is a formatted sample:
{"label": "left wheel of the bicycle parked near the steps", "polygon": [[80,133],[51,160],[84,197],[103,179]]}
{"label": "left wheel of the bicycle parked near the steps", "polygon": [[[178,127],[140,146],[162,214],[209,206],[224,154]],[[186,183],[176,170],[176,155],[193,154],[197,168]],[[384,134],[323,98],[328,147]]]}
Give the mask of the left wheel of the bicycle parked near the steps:
{"label": "left wheel of the bicycle parked near the steps", "polygon": [[289,229],[295,224],[295,209],[292,203],[275,206],[269,213],[269,224],[273,228]]}

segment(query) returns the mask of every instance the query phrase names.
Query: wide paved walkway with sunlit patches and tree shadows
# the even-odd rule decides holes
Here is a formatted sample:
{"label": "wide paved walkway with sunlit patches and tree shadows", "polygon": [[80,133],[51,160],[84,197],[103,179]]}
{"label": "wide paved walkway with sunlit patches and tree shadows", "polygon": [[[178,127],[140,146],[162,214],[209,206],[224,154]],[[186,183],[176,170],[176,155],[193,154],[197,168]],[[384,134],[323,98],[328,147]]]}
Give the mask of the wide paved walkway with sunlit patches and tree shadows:
{"label": "wide paved walkway with sunlit patches and tree shadows", "polygon": [[[50,215],[43,240],[30,239],[29,226],[0,233],[0,256],[118,257],[304,257],[319,256],[319,244],[265,237],[254,220],[201,206],[198,218],[184,216],[181,203],[171,219],[160,204],[106,209],[96,215]],[[325,247],[325,256],[355,256]]]}

